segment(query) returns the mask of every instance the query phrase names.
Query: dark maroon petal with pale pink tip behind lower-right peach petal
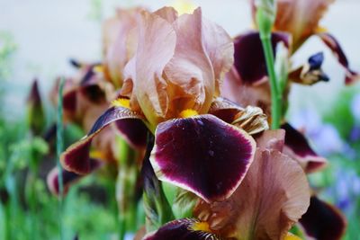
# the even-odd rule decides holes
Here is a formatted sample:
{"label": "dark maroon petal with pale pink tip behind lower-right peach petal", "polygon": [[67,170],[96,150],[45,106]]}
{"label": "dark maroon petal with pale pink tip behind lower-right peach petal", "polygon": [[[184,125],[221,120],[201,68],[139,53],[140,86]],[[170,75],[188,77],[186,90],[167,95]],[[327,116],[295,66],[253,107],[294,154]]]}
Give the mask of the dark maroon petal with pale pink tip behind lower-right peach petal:
{"label": "dark maroon petal with pale pink tip behind lower-right peach petal", "polygon": [[327,159],[318,156],[314,150],[312,150],[308,140],[301,132],[293,129],[288,123],[282,125],[282,129],[285,130],[284,153],[298,161],[306,173],[319,171],[327,165]]}

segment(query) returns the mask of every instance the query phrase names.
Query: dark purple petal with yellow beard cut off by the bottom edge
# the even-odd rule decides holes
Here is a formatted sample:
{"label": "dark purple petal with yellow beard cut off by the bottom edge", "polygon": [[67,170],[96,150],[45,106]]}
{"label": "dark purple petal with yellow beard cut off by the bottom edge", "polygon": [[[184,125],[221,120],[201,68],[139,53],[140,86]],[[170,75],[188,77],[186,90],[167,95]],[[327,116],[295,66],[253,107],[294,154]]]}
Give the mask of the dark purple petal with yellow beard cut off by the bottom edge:
{"label": "dark purple petal with yellow beard cut off by the bottom edge", "polygon": [[144,240],[220,240],[210,231],[198,230],[197,226],[207,225],[193,218],[174,220],[160,227],[155,234],[145,236]]}

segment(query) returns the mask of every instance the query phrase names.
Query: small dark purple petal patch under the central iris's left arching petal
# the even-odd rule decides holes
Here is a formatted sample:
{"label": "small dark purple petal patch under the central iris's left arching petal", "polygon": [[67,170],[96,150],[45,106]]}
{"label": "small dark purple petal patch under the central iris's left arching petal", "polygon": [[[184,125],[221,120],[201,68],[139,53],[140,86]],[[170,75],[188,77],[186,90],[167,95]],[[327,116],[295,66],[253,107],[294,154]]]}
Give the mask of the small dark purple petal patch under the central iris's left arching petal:
{"label": "small dark purple petal patch under the central iris's left arching petal", "polygon": [[142,120],[118,120],[115,121],[115,126],[131,147],[136,149],[146,147],[148,128]]}

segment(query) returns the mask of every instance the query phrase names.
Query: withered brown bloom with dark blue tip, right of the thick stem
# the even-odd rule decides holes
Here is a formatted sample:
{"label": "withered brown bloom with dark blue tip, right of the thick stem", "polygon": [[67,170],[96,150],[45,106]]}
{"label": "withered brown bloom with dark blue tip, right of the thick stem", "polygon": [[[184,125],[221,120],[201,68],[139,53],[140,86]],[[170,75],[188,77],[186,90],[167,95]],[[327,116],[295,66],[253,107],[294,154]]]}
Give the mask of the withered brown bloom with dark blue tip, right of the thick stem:
{"label": "withered brown bloom with dark blue tip, right of the thick stem", "polygon": [[320,81],[328,82],[327,76],[321,69],[324,55],[322,52],[312,55],[308,63],[296,68],[289,74],[289,80],[298,84],[316,84]]}

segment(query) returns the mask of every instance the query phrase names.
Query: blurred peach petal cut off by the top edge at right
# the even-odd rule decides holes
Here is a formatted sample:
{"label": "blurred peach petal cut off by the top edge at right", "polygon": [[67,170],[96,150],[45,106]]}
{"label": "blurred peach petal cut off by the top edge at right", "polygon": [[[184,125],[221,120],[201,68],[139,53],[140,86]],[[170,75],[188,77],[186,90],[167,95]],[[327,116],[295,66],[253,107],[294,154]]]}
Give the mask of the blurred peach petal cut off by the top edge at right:
{"label": "blurred peach petal cut off by the top edge at right", "polygon": [[334,0],[279,0],[275,30],[291,32],[296,50],[316,33],[320,19],[333,2]]}

